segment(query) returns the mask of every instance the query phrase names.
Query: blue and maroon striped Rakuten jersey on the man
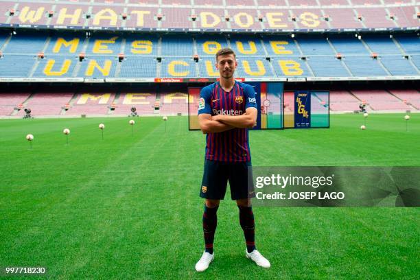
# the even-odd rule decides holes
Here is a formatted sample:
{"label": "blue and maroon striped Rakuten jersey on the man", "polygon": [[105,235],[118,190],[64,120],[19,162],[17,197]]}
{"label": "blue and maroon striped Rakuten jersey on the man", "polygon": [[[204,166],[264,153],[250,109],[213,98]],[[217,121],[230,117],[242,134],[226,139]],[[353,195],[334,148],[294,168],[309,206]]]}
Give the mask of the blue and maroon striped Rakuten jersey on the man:
{"label": "blue and maroon striped Rakuten jersey on the man", "polygon": [[[257,108],[252,86],[235,81],[231,91],[226,92],[220,82],[215,82],[200,91],[198,115],[242,115],[249,107]],[[206,159],[224,162],[250,161],[248,129],[233,128],[224,132],[208,133]]]}

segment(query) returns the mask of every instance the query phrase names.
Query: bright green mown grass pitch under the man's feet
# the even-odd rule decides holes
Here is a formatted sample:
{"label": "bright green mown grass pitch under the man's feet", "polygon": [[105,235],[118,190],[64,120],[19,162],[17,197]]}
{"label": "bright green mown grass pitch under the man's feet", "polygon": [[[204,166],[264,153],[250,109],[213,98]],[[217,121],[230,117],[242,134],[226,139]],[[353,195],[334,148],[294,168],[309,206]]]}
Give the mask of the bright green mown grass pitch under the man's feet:
{"label": "bright green mown grass pitch under the man's feet", "polygon": [[[420,115],[331,115],[331,128],[250,132],[253,165],[420,165]],[[98,124],[103,122],[104,141]],[[69,128],[66,145],[64,128]],[[32,150],[25,135],[32,133]],[[0,121],[0,266],[51,279],[418,279],[418,208],[255,207],[246,259],[237,207],[218,211],[215,259],[198,197],[205,136],[187,117]],[[35,278],[36,279],[36,278]]]}

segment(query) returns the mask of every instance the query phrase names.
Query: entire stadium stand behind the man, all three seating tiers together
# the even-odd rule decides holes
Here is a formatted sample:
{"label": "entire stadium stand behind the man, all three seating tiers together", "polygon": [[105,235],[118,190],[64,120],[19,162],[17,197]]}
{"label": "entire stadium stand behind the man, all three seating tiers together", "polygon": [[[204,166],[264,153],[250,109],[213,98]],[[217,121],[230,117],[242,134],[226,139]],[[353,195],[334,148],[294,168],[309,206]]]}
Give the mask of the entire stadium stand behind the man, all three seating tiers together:
{"label": "entire stadium stand behind the man, all three seating tiers together", "polygon": [[[36,117],[129,115],[132,106],[139,115],[186,114],[190,85],[156,81],[218,78],[222,47],[236,52],[235,76],[244,80],[419,80],[419,11],[408,0],[0,0],[0,82],[149,83],[5,92],[0,116],[22,117],[19,104]],[[420,110],[416,89],[337,88],[333,112],[362,102],[369,110]],[[325,111],[323,98],[314,100],[317,112]]]}

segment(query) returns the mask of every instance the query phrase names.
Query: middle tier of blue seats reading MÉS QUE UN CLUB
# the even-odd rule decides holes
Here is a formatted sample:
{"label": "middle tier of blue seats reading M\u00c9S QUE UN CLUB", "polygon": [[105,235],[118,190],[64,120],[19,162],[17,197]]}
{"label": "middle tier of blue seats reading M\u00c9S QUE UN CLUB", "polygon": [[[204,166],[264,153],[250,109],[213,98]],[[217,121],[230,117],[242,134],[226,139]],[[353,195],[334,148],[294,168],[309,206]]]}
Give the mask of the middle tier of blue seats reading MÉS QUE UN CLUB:
{"label": "middle tier of blue seats reading M\u00c9S QUE UN CLUB", "polygon": [[[0,35],[0,79],[217,78],[214,55],[237,54],[237,78],[419,78],[415,34],[325,36],[105,34]],[[111,81],[111,80],[110,80]]]}

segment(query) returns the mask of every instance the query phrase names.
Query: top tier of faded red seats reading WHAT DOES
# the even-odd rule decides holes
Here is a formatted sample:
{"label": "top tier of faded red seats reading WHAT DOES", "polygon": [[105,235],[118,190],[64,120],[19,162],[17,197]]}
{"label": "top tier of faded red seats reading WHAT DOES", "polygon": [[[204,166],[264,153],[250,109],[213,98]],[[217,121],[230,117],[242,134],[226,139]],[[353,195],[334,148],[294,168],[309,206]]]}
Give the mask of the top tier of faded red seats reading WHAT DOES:
{"label": "top tier of faded red seats reading WHAT DOES", "polygon": [[418,3],[391,0],[0,1],[0,26],[104,30],[406,29]]}

